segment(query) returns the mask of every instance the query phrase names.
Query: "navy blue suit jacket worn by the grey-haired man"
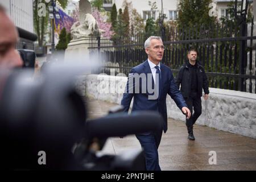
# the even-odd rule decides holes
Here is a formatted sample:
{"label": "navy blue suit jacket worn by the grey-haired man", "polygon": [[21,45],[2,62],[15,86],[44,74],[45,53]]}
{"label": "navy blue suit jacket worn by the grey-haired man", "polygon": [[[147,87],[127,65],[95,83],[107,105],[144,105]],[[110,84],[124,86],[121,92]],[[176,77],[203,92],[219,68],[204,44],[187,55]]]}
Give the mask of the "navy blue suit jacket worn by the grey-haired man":
{"label": "navy blue suit jacket worn by the grey-haired man", "polygon": [[[167,131],[167,109],[166,109],[167,93],[171,96],[171,98],[175,101],[176,105],[180,109],[184,106],[187,107],[187,105],[185,104],[184,98],[174,82],[174,76],[172,75],[171,69],[168,68],[166,65],[160,63],[160,70],[161,70],[160,97],[158,97],[155,100],[148,100],[148,96],[152,94],[150,93],[150,90],[148,90],[148,88],[146,89],[146,93],[143,92],[142,79],[140,79],[139,82],[134,81],[134,84],[132,86],[133,88],[131,88],[131,86],[129,88],[129,80],[134,79],[134,77],[131,76],[131,73],[138,73],[138,75],[140,75],[141,73],[145,73],[146,75],[148,73],[152,74],[150,65],[146,60],[144,61],[144,63],[139,64],[137,67],[132,68],[128,77],[127,85],[126,85],[126,93],[123,94],[121,105],[123,105],[125,108],[125,111],[128,112],[131,104],[131,100],[132,98],[134,98],[132,111],[135,111],[135,110],[159,111],[159,113],[162,115],[164,119],[163,130],[164,130],[164,133],[166,133]],[[146,81],[148,81],[148,77],[146,77]],[[139,84],[139,93],[138,92],[135,93],[136,91],[135,85],[137,84]],[[152,78],[152,85],[154,87],[153,78]],[[129,92],[129,89],[130,89],[130,92]],[[133,90],[133,93],[131,93],[131,90]]]}

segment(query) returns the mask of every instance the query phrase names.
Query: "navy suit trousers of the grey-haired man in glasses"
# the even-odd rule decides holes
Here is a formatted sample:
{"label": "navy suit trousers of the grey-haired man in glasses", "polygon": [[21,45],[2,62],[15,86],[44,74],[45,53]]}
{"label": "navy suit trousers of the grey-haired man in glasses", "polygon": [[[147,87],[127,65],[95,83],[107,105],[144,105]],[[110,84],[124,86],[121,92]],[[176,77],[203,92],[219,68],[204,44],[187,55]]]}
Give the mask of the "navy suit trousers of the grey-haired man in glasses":
{"label": "navy suit trousers of the grey-haired man in glasses", "polygon": [[147,171],[161,171],[158,159],[158,147],[163,130],[155,133],[137,134],[136,137],[144,150]]}

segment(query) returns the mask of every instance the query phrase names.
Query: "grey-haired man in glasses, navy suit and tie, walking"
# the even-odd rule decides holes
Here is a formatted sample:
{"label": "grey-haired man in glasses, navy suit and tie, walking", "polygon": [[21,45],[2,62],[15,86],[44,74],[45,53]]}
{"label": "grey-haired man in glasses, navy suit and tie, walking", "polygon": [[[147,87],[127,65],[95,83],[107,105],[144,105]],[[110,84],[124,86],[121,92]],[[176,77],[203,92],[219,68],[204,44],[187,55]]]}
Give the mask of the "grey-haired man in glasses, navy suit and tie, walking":
{"label": "grey-haired man in glasses, navy suit and tie, walking", "polygon": [[146,169],[160,171],[158,147],[163,131],[164,133],[167,131],[167,93],[187,118],[191,113],[175,85],[171,69],[160,63],[164,52],[162,39],[158,36],[150,36],[144,46],[148,59],[131,69],[121,105],[128,112],[131,100],[134,98],[132,111],[151,110],[158,111],[162,115],[164,122],[158,131],[136,135],[144,150]]}

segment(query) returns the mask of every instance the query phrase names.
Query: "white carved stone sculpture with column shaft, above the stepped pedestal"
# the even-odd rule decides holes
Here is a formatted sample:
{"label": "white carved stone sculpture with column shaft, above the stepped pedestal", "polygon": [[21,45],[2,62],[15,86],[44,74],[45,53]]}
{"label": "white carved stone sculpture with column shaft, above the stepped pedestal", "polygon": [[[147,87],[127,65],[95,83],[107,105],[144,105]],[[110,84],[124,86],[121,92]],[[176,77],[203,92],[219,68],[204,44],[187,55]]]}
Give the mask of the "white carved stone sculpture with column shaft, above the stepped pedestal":
{"label": "white carved stone sculpture with column shaft, above the stepped pedestal", "polygon": [[80,0],[79,2],[79,22],[76,22],[71,27],[71,35],[73,40],[86,38],[93,35],[96,31],[97,22],[91,14],[92,6],[87,0]]}

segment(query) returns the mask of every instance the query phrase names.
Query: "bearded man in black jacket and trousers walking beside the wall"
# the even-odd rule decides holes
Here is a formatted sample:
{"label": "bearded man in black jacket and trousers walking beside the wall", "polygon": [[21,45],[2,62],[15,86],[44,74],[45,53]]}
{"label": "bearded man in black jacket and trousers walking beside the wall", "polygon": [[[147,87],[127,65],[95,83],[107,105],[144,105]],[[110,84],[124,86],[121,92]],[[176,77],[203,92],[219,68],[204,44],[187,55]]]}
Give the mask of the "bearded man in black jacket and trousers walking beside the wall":
{"label": "bearded man in black jacket and trousers walking beside the wall", "polygon": [[191,114],[194,109],[194,113],[191,118],[186,119],[186,125],[188,129],[188,139],[195,140],[193,135],[193,124],[196,119],[202,113],[201,96],[204,89],[204,100],[208,100],[209,84],[205,74],[203,66],[196,60],[196,49],[189,49],[188,61],[180,68],[179,73],[176,76],[177,88],[181,88],[180,91],[188,105]]}

